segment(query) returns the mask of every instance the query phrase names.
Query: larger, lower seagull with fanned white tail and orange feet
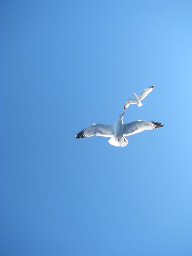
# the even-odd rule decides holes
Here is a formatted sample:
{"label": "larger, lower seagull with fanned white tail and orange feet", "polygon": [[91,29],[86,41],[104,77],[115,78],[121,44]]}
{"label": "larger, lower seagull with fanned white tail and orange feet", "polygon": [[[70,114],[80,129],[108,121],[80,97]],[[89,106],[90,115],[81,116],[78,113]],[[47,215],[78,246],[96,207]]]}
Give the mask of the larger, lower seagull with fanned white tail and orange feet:
{"label": "larger, lower seagull with fanned white tail and orange feet", "polygon": [[103,136],[111,138],[108,142],[109,144],[116,147],[127,146],[129,141],[125,138],[126,136],[133,135],[135,133],[140,133],[145,130],[152,130],[164,126],[162,123],[154,121],[141,121],[137,120],[131,123],[123,123],[123,112],[118,116],[118,119],[113,125],[103,125],[101,123],[95,123],[88,128],[79,131],[75,135],[76,139],[91,137],[91,136]]}

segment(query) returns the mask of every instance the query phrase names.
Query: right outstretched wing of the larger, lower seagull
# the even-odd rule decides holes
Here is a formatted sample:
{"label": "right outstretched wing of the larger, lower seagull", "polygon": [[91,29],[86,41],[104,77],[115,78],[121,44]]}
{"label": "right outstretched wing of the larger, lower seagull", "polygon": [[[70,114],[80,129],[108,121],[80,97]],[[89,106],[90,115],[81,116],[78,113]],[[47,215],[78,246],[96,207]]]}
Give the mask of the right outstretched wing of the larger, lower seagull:
{"label": "right outstretched wing of the larger, lower seagull", "polygon": [[135,133],[140,133],[141,131],[145,130],[152,130],[156,128],[160,128],[164,126],[162,123],[157,123],[153,121],[134,121],[131,123],[124,123],[123,124],[123,135],[129,136]]}

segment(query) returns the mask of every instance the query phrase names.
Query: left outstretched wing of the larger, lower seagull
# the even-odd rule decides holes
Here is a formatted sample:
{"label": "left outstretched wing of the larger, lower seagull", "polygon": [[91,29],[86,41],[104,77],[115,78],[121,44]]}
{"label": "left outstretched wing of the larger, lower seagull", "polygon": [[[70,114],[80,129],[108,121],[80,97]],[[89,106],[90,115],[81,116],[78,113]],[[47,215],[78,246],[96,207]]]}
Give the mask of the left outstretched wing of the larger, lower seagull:
{"label": "left outstretched wing of the larger, lower seagull", "polygon": [[91,136],[104,136],[104,137],[113,137],[114,136],[114,128],[113,125],[102,125],[101,123],[95,123],[94,125],[85,128],[82,131],[79,131],[77,135],[75,135],[76,139],[91,137]]}

